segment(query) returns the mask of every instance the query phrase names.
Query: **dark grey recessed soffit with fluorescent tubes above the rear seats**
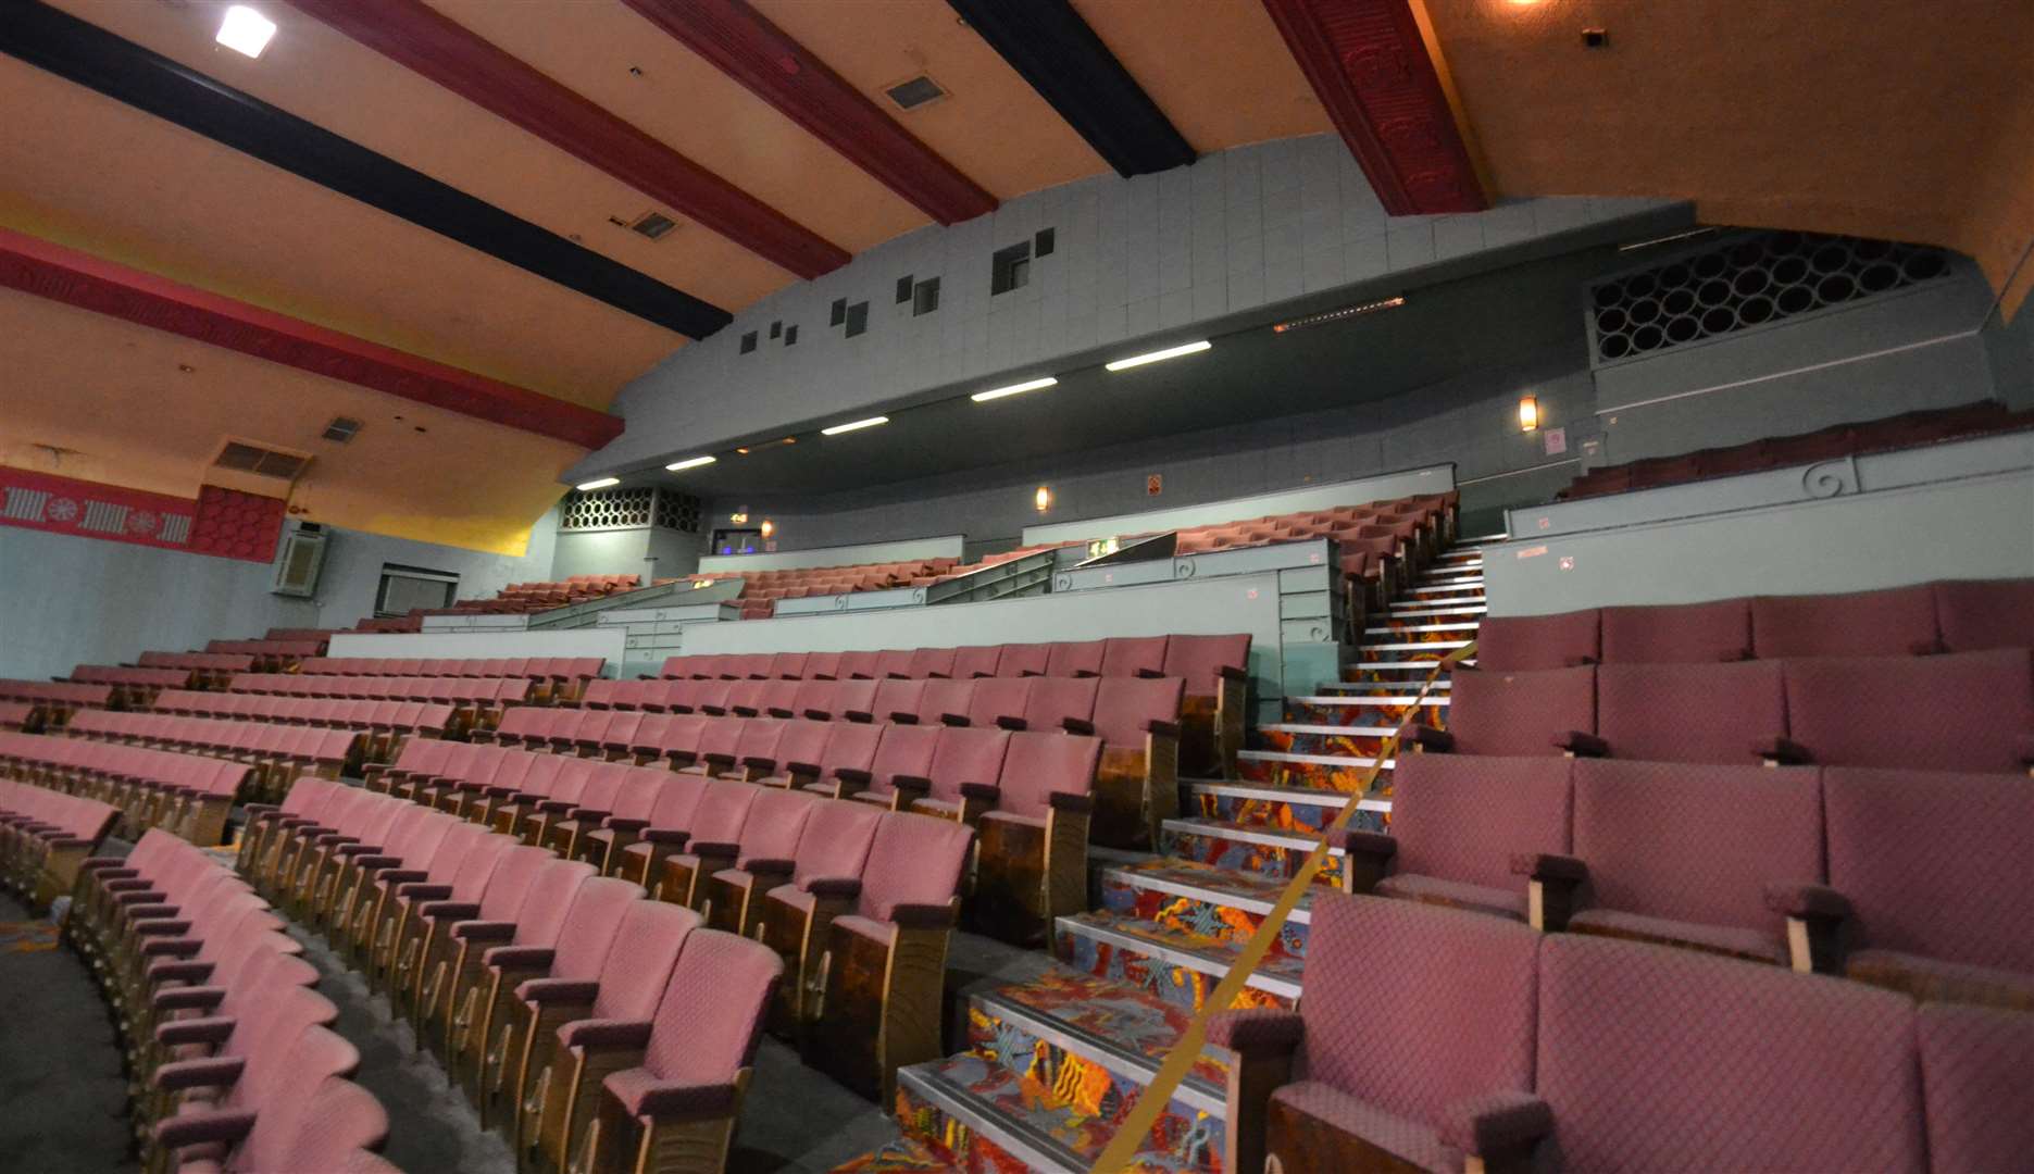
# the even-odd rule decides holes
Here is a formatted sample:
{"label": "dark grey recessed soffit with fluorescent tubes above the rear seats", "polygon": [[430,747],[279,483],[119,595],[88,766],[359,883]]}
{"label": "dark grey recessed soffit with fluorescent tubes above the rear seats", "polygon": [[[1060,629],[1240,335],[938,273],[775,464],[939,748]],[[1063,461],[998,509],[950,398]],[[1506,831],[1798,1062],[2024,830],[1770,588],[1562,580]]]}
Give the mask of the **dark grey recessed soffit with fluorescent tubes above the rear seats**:
{"label": "dark grey recessed soffit with fluorescent tubes above the rear seats", "polygon": [[[1204,336],[1184,328],[1153,346],[1212,338],[1214,348],[1135,370],[1106,372],[1100,362],[1135,354],[1143,342],[1111,344],[1035,364],[1033,374],[1054,372],[1058,387],[986,405],[972,403],[968,393],[995,387],[997,376],[942,387],[915,397],[917,405],[871,407],[869,415],[891,415],[885,427],[828,437],[805,437],[814,429],[789,427],[769,439],[797,433],[795,446],[755,448],[749,456],[722,446],[714,450],[716,464],[679,476],[687,492],[710,498],[840,492],[1353,407],[1562,346],[1572,348],[1574,366],[1582,368],[1589,360],[1578,313],[1582,291],[1631,262],[1611,242],[1686,220],[1688,208],[1678,206],[1646,214],[1637,226],[1627,222],[1603,232],[1601,244],[1576,248],[1570,242],[1566,252],[1546,250],[1505,269],[1477,273],[1464,267],[1467,273],[1432,285],[1418,285],[1420,275],[1412,283],[1395,277],[1389,285],[1342,287],[1202,324]],[[1428,277],[1448,277],[1448,269],[1434,267]],[[1405,293],[1408,303],[1314,330],[1269,330],[1300,313],[1391,293]],[[883,346],[883,330],[871,326],[864,344]],[[663,480],[671,476],[661,468],[667,460],[643,462],[622,476]]]}

